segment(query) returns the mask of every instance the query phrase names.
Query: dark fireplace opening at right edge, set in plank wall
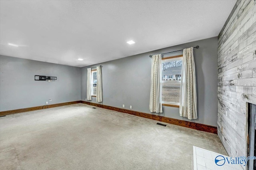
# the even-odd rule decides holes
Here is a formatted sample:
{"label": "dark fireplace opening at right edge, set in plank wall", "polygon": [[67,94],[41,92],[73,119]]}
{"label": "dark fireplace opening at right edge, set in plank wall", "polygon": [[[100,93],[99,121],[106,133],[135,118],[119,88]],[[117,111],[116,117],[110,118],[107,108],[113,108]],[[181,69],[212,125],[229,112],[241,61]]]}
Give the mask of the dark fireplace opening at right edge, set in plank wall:
{"label": "dark fireplace opening at right edge, set in plank wall", "polygon": [[[248,156],[256,156],[256,105],[248,103]],[[248,160],[248,170],[256,170],[256,160]]]}

